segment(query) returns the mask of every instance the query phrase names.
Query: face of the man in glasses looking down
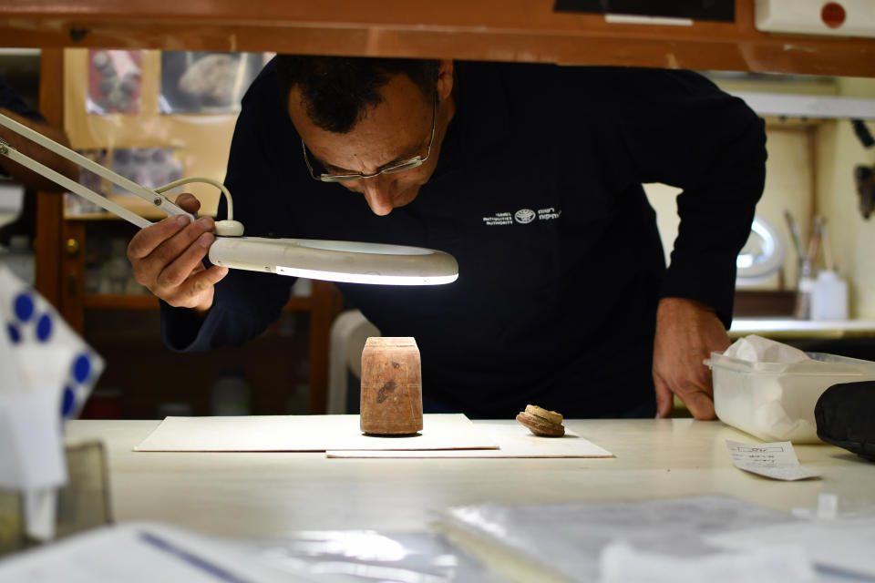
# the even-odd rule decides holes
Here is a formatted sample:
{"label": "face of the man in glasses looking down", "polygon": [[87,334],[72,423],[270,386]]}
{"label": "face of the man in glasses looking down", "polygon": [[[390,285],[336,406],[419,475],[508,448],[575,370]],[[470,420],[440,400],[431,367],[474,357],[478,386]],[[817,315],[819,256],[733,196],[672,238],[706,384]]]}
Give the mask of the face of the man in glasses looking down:
{"label": "face of the man in glasses looking down", "polygon": [[[445,75],[447,67],[448,78]],[[375,214],[387,215],[396,207],[403,207],[416,199],[419,187],[431,177],[453,114],[453,104],[448,98],[451,89],[452,64],[442,62],[435,139],[431,155],[421,166],[340,183],[364,195]],[[330,174],[373,174],[416,156],[425,158],[431,138],[434,96],[424,95],[406,75],[390,77],[380,88],[380,95],[383,101],[379,105],[368,107],[365,117],[351,131],[338,134],[315,126],[306,115],[300,91],[293,87],[289,93],[289,116],[314,157],[317,175],[323,171]]]}

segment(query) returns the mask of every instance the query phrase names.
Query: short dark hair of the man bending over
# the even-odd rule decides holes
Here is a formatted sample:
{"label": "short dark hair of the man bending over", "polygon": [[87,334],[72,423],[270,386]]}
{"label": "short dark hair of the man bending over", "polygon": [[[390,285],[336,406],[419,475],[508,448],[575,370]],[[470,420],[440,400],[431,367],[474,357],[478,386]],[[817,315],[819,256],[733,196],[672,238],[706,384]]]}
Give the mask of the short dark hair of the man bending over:
{"label": "short dark hair of the man bending over", "polygon": [[298,87],[307,116],[319,128],[345,134],[383,101],[379,89],[393,75],[410,77],[427,99],[438,83],[437,60],[351,56],[280,55],[283,96]]}

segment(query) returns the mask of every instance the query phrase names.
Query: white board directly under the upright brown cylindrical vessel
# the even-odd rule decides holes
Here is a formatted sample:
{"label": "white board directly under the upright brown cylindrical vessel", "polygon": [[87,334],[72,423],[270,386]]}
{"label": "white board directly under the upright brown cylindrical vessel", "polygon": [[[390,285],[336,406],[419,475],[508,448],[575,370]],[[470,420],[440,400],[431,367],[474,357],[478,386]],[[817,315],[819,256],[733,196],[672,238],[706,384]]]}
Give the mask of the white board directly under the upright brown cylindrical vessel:
{"label": "white board directly under the upright brown cylindrical vessel", "polygon": [[495,449],[464,414],[426,414],[418,435],[363,435],[358,415],[167,417],[139,452],[324,452],[350,449]]}

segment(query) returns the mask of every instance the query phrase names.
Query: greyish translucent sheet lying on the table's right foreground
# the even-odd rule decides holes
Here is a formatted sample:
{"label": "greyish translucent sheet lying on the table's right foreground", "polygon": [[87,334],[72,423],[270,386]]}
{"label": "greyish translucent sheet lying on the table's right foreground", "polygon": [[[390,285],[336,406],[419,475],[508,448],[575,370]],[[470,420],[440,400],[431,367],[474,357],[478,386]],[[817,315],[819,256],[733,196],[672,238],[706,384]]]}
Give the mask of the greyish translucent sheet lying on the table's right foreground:
{"label": "greyish translucent sheet lying on the table's right foreground", "polygon": [[797,518],[725,496],[694,496],[649,502],[543,505],[480,504],[448,509],[450,527],[509,547],[570,581],[599,580],[602,550],[623,541],[669,557],[716,552],[708,534],[791,523]]}

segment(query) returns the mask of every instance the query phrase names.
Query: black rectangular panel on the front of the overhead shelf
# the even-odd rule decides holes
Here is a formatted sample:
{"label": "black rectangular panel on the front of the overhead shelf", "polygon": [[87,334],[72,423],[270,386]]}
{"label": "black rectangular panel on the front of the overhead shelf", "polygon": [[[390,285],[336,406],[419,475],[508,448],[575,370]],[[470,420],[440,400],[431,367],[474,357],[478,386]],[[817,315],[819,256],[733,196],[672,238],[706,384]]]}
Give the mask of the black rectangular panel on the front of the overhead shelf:
{"label": "black rectangular panel on the front of the overhead shelf", "polygon": [[555,12],[736,20],[735,0],[556,0]]}

